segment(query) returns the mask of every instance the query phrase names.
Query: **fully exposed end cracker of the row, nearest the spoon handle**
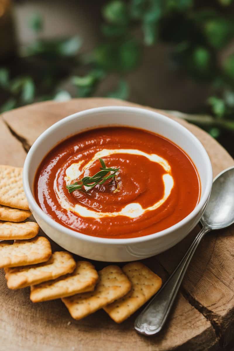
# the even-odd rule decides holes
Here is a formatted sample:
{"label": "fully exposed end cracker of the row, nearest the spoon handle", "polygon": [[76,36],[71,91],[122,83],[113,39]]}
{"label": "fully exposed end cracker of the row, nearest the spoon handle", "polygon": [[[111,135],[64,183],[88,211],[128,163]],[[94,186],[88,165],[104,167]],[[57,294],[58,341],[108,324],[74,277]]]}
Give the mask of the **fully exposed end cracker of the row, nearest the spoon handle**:
{"label": "fully exposed end cracker of the row, nearest the spoon handle", "polygon": [[122,268],[132,289],[123,298],[104,307],[116,322],[121,323],[148,301],[161,287],[162,279],[141,262],[131,262]]}

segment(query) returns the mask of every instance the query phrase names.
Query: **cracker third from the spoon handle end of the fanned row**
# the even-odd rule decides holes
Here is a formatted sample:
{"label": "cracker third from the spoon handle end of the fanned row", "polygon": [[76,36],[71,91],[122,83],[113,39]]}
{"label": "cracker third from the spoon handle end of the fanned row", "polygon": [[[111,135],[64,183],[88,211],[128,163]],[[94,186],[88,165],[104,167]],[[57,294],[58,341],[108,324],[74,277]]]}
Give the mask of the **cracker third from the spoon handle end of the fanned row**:
{"label": "cracker third from the spoon handle end of the fanned row", "polygon": [[72,274],[31,286],[30,299],[32,302],[42,302],[93,291],[97,280],[98,272],[92,263],[78,261]]}

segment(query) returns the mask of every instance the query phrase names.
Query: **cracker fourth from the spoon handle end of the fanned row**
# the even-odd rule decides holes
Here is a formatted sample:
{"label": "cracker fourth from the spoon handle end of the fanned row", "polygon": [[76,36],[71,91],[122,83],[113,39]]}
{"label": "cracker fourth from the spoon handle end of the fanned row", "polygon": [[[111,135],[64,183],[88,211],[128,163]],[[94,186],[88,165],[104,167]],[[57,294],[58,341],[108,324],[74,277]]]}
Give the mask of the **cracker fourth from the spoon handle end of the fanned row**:
{"label": "cracker fourth from the spoon handle end of the fanned row", "polygon": [[54,252],[48,261],[25,267],[5,268],[9,289],[20,289],[29,285],[39,284],[56,279],[75,269],[72,254],[66,251]]}

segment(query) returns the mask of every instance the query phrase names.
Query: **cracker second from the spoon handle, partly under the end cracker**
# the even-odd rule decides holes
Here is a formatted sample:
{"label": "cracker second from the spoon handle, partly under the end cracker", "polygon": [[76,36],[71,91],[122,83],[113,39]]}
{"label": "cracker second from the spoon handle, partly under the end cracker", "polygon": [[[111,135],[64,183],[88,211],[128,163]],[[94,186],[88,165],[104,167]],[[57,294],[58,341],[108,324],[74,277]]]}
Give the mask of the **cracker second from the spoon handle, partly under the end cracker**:
{"label": "cracker second from the spoon handle, partly under the end cracker", "polygon": [[88,316],[127,294],[131,283],[118,266],[107,266],[99,271],[99,280],[93,292],[62,298],[74,319]]}

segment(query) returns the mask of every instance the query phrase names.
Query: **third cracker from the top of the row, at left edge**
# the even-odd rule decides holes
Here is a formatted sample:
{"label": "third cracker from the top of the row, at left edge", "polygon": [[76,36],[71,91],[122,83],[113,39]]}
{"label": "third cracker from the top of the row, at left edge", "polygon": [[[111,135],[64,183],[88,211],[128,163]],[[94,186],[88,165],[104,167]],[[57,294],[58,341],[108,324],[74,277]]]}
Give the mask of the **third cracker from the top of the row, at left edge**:
{"label": "third cracker from the top of the row, at left edge", "polygon": [[0,240],[31,239],[39,232],[35,222],[12,223],[0,221]]}

